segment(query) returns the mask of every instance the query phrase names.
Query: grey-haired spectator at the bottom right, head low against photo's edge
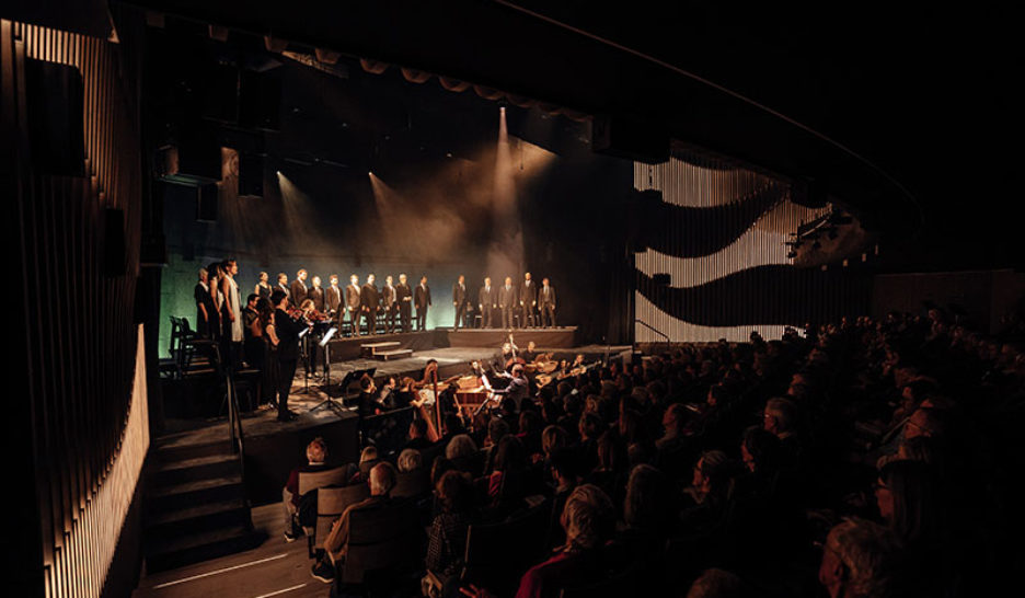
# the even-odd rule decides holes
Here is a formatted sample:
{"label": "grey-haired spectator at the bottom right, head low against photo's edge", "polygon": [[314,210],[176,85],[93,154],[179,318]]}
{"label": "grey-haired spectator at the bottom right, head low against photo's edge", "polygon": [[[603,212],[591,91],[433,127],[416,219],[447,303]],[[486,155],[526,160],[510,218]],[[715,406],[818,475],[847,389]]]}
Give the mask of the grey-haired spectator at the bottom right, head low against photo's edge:
{"label": "grey-haired spectator at the bottom right, head low against photo's edge", "polygon": [[822,545],[819,583],[830,598],[887,596],[892,554],[889,530],[864,519],[843,521],[829,531]]}

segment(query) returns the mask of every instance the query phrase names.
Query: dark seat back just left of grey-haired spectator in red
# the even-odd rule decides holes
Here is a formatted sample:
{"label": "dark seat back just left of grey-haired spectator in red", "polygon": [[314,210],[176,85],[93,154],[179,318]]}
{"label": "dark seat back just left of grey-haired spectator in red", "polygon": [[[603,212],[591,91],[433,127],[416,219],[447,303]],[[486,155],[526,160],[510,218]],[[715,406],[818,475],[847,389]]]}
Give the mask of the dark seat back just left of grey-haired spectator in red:
{"label": "dark seat back just left of grey-haired spectator in red", "polygon": [[471,525],[462,579],[499,596],[512,594],[520,577],[544,555],[551,507],[545,503],[499,524]]}

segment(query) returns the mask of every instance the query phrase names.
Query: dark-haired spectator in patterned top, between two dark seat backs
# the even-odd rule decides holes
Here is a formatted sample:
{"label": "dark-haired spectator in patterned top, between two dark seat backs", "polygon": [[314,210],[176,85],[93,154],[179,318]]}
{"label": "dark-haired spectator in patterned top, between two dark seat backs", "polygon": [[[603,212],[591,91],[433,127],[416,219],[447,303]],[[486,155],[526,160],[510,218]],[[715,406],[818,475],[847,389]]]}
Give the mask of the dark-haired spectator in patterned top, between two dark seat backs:
{"label": "dark-haired spectator in patterned top, between two dark seat backs", "polygon": [[444,582],[462,566],[473,513],[473,483],[465,473],[448,471],[435,488],[441,513],[430,524],[426,564],[427,571]]}

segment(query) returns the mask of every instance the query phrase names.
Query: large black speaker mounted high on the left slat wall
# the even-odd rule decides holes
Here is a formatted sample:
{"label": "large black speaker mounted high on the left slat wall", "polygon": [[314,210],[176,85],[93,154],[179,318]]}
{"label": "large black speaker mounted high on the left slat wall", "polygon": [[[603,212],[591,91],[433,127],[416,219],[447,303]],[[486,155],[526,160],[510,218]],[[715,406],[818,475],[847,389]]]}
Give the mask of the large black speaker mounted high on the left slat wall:
{"label": "large black speaker mounted high on the left slat wall", "polygon": [[33,168],[59,176],[85,175],[82,73],[76,67],[25,60]]}

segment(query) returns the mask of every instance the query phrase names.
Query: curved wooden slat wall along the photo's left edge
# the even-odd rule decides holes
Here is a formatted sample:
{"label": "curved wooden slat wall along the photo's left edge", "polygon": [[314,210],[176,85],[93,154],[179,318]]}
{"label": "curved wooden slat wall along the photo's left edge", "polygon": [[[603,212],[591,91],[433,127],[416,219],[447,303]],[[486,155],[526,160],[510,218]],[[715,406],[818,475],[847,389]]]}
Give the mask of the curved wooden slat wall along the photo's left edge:
{"label": "curved wooden slat wall along the photo's left edge", "polygon": [[[35,480],[48,596],[99,596],[148,446],[134,323],[141,169],[131,73],[103,39],[2,22],[14,81],[24,319]],[[85,177],[31,169],[24,60],[73,66],[84,83]],[[10,122],[10,120],[9,120]],[[125,215],[127,274],[104,273],[104,210]],[[145,371],[141,372],[145,380]],[[118,518],[119,517],[119,518]]]}

